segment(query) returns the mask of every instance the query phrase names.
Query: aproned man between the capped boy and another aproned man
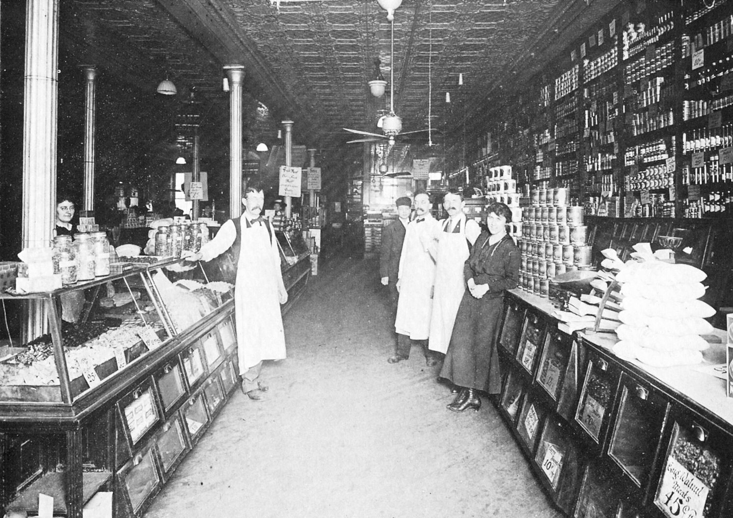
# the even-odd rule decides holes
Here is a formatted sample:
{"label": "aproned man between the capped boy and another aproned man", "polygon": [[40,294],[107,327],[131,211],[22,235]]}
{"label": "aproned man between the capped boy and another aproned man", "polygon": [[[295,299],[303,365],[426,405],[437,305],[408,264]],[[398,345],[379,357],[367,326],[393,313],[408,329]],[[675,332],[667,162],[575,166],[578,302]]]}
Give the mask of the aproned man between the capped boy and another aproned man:
{"label": "aproned man between the capped boy and another aproned man", "polygon": [[424,347],[427,365],[438,360],[427,349],[432,311],[432,282],[435,280],[436,239],[441,225],[430,214],[430,197],[427,193],[415,194],[415,219],[408,224],[397,274],[397,351],[387,359],[390,363],[410,357],[410,340]]}

